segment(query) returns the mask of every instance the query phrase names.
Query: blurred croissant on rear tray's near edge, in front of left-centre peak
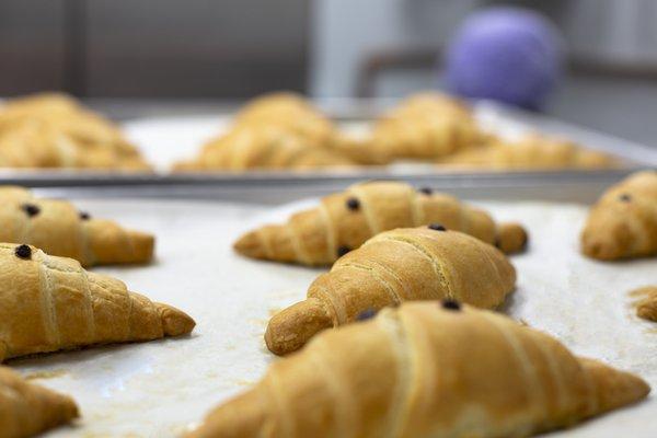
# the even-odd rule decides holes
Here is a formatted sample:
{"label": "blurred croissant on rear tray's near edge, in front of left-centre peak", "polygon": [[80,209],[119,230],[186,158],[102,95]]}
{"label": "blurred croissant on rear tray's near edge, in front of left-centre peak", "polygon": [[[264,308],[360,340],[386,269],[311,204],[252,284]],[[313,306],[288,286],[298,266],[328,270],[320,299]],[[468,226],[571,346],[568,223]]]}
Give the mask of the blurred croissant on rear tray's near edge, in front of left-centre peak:
{"label": "blurred croissant on rear tray's near edge, in front of left-centre peak", "polygon": [[316,147],[292,131],[270,125],[238,126],[205,146],[193,161],[178,163],[178,171],[250,169],[313,169],[348,166],[338,152]]}

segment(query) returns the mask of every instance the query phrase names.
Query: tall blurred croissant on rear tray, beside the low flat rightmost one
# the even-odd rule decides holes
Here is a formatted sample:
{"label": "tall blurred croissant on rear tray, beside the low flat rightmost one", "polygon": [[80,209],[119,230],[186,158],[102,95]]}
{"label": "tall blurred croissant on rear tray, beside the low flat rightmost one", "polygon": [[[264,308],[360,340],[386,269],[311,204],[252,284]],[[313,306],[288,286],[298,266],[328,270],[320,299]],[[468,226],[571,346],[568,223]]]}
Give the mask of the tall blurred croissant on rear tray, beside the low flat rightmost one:
{"label": "tall blurred croissant on rear tray, beside the low flat rightmost one", "polygon": [[481,139],[470,111],[437,93],[411,96],[376,124],[372,136],[384,155],[424,160],[449,155]]}

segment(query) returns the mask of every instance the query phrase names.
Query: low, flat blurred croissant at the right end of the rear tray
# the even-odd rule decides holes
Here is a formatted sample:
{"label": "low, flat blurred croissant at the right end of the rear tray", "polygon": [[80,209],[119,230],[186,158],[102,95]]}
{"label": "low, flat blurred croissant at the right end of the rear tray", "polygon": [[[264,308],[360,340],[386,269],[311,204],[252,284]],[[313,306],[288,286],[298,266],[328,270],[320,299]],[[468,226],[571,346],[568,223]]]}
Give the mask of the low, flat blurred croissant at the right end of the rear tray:
{"label": "low, flat blurred croissant at the right end of the rear tray", "polygon": [[570,141],[530,135],[519,141],[493,139],[441,161],[442,165],[487,169],[608,169],[616,165],[607,153],[584,149]]}

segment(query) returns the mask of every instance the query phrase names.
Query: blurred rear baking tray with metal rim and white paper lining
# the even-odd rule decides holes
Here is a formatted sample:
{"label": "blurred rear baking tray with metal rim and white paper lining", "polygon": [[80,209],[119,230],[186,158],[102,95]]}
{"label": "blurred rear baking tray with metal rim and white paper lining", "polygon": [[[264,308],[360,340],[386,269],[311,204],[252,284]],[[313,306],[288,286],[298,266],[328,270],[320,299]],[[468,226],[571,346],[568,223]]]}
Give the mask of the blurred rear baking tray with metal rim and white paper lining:
{"label": "blurred rear baking tray with metal rim and white paper lining", "polygon": [[[337,100],[325,103],[332,117],[347,130],[364,130],[376,114],[390,106],[390,101]],[[591,149],[612,153],[625,161],[624,170],[638,166],[657,166],[657,148],[638,145],[613,136],[585,129],[542,115],[527,113],[492,102],[473,104],[475,116],[485,127],[494,128],[507,137],[517,137],[527,131],[546,134],[573,139]],[[230,125],[230,114],[188,115],[139,118],[125,122],[127,137],[134,141],[148,161],[153,163],[152,173],[118,173],[78,170],[2,170],[0,183],[19,183],[26,186],[97,186],[97,185],[151,185],[171,187],[174,185],[227,185],[242,181],[258,180],[275,186],[286,178],[309,181],[313,177],[335,180],[364,177],[426,177],[428,175],[468,175],[472,171],[441,169],[431,164],[393,164],[388,168],[357,168],[353,170],[318,170],[307,172],[212,172],[195,174],[172,174],[171,165],[182,159],[194,157],[201,145],[210,137],[226,130]],[[589,175],[597,171],[575,171]],[[528,174],[537,172],[476,171],[477,175],[499,178],[505,174]],[[556,178],[573,171],[544,172]],[[593,176],[595,177],[595,176]],[[540,176],[539,176],[540,178]],[[246,183],[249,184],[249,183]]]}

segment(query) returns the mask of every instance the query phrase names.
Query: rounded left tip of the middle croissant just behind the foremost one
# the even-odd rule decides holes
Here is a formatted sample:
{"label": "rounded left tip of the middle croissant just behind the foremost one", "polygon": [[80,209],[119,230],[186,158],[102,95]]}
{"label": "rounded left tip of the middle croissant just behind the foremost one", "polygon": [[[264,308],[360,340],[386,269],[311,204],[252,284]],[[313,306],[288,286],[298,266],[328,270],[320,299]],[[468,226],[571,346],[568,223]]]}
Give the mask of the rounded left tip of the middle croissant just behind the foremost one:
{"label": "rounded left tip of the middle croissant just behind the foremost one", "polygon": [[300,301],[275,314],[265,332],[269,351],[281,356],[301,348],[312,336],[333,326],[333,320],[315,298]]}

